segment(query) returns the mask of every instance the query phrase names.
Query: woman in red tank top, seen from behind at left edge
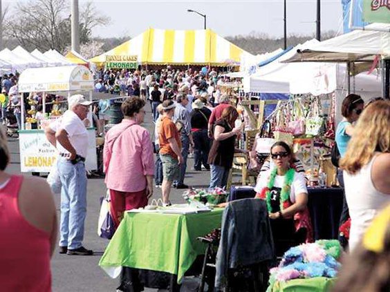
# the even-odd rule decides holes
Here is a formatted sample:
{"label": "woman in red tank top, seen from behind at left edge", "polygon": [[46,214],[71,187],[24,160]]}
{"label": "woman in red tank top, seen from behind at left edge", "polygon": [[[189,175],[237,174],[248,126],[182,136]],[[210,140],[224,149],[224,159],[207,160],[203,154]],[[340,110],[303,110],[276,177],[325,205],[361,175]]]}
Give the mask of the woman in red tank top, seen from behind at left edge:
{"label": "woman in red tank top, seen from behind at left edge", "polygon": [[4,172],[9,160],[0,126],[0,290],[51,291],[57,237],[53,195],[44,179]]}

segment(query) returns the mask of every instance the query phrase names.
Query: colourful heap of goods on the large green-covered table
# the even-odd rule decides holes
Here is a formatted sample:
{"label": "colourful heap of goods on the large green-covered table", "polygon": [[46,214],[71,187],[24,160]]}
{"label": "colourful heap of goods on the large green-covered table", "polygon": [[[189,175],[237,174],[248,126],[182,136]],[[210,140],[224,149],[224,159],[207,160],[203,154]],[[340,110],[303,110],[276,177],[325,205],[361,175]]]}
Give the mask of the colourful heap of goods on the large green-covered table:
{"label": "colourful heap of goods on the large green-covered table", "polygon": [[192,188],[183,193],[184,199],[191,204],[192,202],[201,202],[206,206],[215,206],[226,202],[228,193],[224,188]]}

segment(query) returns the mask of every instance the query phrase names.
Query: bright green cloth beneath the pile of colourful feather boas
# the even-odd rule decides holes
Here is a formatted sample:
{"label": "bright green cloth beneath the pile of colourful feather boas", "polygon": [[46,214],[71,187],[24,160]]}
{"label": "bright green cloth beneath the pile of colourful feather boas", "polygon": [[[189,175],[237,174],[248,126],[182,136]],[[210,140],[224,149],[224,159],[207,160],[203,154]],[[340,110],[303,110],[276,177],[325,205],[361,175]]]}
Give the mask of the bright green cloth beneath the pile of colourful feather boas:
{"label": "bright green cloth beneath the pile of colourful feather boas", "polygon": [[275,282],[271,292],[328,292],[335,279],[317,277],[311,279],[294,279],[287,282]]}

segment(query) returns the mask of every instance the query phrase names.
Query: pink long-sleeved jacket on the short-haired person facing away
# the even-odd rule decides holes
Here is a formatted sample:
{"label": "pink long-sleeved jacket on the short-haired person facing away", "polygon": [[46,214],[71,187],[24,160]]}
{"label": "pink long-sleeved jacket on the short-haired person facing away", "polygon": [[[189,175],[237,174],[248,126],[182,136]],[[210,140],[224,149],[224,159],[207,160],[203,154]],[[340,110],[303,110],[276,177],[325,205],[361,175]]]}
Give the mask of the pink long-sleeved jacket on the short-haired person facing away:
{"label": "pink long-sleeved jacket on the short-haired person facing away", "polygon": [[154,175],[154,156],[148,131],[135,121],[123,119],[104,141],[104,173],[107,188],[138,192],[147,186],[146,175]]}

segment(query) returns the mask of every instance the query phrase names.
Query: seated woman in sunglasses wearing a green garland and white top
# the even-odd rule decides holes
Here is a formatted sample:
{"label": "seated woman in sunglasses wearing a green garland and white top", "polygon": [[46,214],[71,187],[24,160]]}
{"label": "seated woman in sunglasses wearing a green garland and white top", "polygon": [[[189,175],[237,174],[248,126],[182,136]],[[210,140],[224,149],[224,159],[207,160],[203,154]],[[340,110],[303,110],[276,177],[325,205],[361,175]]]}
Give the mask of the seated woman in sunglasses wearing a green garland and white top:
{"label": "seated woman in sunglasses wearing a green garland and white top", "polygon": [[264,172],[257,181],[256,197],[266,200],[277,255],[291,246],[311,240],[312,228],[306,208],[306,179],[293,167],[293,153],[285,142],[271,147],[275,168]]}

